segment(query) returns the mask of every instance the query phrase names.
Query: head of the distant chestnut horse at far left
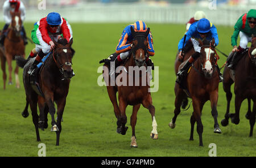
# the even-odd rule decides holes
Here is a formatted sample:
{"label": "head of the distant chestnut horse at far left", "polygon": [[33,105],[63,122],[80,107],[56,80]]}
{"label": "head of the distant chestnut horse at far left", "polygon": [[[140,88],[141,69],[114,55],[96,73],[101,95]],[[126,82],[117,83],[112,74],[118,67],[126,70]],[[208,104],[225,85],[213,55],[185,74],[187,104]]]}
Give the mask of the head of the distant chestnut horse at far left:
{"label": "head of the distant chestnut horse at far left", "polygon": [[22,20],[20,19],[20,11],[19,12],[12,12],[11,14],[11,28],[16,33],[16,36],[20,35],[20,31],[22,30]]}

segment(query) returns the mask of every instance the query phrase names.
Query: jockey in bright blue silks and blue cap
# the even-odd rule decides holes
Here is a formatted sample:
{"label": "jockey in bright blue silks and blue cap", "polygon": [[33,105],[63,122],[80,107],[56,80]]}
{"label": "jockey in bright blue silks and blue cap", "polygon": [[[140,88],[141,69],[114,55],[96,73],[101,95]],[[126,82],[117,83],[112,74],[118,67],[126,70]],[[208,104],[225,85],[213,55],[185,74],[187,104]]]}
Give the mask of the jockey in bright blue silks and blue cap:
{"label": "jockey in bright blue silks and blue cap", "polygon": [[[207,39],[211,41],[214,38],[214,46],[218,45],[218,33],[216,27],[210,23],[209,20],[203,18],[200,19],[199,21],[196,21],[195,23],[191,24],[191,26],[188,29],[188,32],[185,34],[187,35],[187,38],[185,39],[185,44],[187,41],[191,38],[193,48],[195,49],[196,53],[192,54],[191,57],[189,57],[188,61],[184,64],[184,66],[177,72],[177,82],[179,83],[181,77],[183,77],[185,71],[187,71],[188,67],[191,66],[191,64],[198,58],[200,57],[200,50],[201,47],[199,46],[199,42],[197,41],[198,39],[204,40]],[[197,39],[197,40],[196,40]],[[182,48],[183,48],[183,41],[184,37],[181,38],[179,41],[178,49],[179,49],[179,59],[183,59],[183,53],[181,53]],[[184,46],[185,46],[184,44]],[[220,81],[222,81],[222,76],[220,73],[220,68],[217,66],[217,71],[220,77]]]}

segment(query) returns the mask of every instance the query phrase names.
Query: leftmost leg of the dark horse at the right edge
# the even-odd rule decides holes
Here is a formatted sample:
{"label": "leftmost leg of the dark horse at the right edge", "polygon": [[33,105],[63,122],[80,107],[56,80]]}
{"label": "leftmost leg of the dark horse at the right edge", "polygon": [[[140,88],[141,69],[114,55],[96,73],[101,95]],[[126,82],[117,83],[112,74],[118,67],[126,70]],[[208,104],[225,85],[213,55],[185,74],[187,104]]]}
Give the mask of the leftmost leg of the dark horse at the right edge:
{"label": "leftmost leg of the dark horse at the right edge", "polygon": [[231,79],[229,75],[229,68],[225,68],[223,72],[223,89],[226,93],[226,114],[225,118],[221,120],[221,125],[226,127],[229,124],[229,109],[230,109],[230,101],[232,100],[232,92],[230,91],[231,85],[234,83],[234,81]]}

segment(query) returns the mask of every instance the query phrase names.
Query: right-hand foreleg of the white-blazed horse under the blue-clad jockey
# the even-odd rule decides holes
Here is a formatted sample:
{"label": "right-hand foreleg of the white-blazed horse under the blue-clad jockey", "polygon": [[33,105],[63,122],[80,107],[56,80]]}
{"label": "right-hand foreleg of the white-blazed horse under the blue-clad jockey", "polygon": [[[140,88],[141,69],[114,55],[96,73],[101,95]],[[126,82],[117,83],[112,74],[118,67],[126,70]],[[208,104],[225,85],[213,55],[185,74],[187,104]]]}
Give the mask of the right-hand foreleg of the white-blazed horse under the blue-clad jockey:
{"label": "right-hand foreleg of the white-blazed horse under the blue-clad jockey", "polygon": [[218,111],[217,111],[217,102],[218,102],[218,91],[213,91],[210,93],[210,106],[212,107],[212,117],[214,119],[214,133],[221,133],[220,126],[218,125]]}

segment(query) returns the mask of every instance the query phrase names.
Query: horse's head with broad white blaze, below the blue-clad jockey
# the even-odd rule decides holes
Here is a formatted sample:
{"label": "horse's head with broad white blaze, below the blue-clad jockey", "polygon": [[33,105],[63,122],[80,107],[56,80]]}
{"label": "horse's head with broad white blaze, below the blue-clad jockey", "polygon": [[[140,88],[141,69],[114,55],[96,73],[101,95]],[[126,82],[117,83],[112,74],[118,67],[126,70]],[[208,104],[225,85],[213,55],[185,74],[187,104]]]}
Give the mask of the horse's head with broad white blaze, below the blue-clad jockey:
{"label": "horse's head with broad white blaze, below the blue-clad jockey", "polygon": [[201,51],[200,51],[200,62],[201,62],[201,68],[204,72],[204,76],[206,78],[212,77],[214,65],[217,62],[217,58],[215,56],[216,51],[214,49],[214,38],[209,43],[209,45],[205,45],[201,40],[199,40],[199,43],[201,45]]}

